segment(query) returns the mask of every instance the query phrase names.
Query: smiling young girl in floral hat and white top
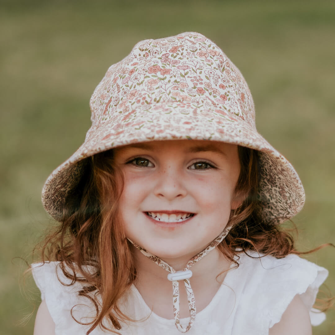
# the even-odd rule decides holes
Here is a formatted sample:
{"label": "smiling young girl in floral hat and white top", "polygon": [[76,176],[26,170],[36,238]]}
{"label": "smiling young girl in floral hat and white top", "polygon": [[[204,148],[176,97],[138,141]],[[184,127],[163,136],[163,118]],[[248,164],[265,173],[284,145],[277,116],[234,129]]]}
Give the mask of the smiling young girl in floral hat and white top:
{"label": "smiling young girl in floral hat and white top", "polygon": [[60,224],[32,264],[34,334],[312,334],[327,270],[278,226],[304,189],[226,55],[195,32],[139,42],[90,108],[43,189]]}

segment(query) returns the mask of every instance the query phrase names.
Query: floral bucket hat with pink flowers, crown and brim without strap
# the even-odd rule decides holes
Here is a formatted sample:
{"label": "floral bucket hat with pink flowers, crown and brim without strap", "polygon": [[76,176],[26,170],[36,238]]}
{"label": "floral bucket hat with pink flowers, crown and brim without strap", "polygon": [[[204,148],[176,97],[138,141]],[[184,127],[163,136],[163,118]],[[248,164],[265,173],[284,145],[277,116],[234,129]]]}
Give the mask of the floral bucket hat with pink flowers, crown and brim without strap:
{"label": "floral bucket hat with pink flowers, crown and brim without strap", "polygon": [[257,210],[274,224],[294,216],[305,193],[288,160],[257,131],[255,108],[239,69],[197,32],[144,40],[113,64],[90,98],[84,143],[47,179],[42,202],[56,220],[78,184],[87,157],[121,145],[195,139],[260,152]]}

